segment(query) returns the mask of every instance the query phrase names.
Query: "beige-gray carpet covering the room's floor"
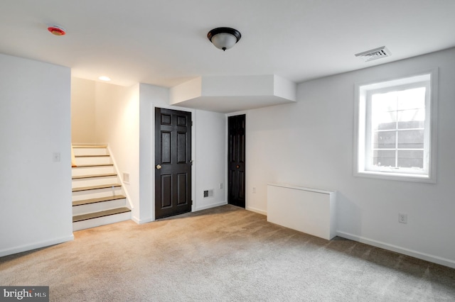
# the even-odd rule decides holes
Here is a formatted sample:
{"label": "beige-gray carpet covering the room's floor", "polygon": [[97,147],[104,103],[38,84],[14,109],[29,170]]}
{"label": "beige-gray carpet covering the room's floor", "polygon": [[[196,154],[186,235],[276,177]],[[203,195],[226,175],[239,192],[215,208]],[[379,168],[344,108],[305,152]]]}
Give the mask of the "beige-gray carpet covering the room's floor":
{"label": "beige-gray carpet covering the room's floor", "polygon": [[50,301],[455,301],[455,269],[220,206],[0,258],[1,286]]}

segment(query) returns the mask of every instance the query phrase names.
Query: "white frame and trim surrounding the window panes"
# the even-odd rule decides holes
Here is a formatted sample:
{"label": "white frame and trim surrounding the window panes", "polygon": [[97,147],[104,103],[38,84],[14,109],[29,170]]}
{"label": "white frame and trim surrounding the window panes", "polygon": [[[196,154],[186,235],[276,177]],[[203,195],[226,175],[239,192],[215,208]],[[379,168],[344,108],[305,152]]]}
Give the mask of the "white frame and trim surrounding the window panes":
{"label": "white frame and trim surrounding the window panes", "polygon": [[[355,84],[354,176],[436,183],[437,69],[395,79]],[[370,100],[373,94],[411,89],[426,83],[424,125],[424,169],[390,169],[368,164],[371,150]]]}

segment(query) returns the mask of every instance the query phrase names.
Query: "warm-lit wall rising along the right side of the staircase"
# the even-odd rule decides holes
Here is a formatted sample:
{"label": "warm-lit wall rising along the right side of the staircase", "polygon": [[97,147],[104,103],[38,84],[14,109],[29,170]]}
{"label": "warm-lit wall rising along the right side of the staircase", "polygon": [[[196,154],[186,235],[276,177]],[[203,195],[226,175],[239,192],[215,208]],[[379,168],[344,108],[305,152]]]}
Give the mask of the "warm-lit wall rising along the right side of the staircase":
{"label": "warm-lit wall rising along the right side of the staircase", "polygon": [[139,84],[132,87],[95,84],[96,142],[108,143],[119,177],[132,203],[132,216],[139,216]]}

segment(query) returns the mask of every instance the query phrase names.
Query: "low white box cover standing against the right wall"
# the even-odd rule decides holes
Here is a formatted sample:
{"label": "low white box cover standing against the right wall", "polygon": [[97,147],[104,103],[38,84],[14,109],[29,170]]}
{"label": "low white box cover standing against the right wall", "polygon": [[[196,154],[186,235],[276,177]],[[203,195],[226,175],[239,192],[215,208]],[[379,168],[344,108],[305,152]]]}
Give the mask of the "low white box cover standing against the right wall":
{"label": "low white box cover standing against the right wall", "polygon": [[267,185],[267,221],[331,240],[336,236],[336,191]]}

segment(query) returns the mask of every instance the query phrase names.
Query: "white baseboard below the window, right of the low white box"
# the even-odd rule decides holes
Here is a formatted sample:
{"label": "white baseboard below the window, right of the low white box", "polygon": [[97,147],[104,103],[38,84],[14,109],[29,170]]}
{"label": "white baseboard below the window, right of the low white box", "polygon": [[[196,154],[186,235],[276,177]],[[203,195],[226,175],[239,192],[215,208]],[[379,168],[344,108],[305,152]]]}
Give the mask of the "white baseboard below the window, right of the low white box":
{"label": "white baseboard below the window, right of the low white box", "polygon": [[390,250],[392,252],[398,252],[398,253],[403,254],[403,255],[411,256],[411,257],[414,257],[414,258],[417,258],[417,259],[422,259],[422,260],[425,260],[425,261],[428,261],[428,262],[433,262],[433,263],[436,263],[436,264],[441,264],[441,265],[444,265],[446,267],[451,267],[451,268],[455,269],[455,261],[451,260],[451,259],[446,259],[446,258],[434,256],[434,255],[429,255],[429,254],[425,254],[425,253],[422,253],[422,252],[417,252],[417,251],[414,251],[414,250],[409,250],[409,249],[407,249],[405,247],[398,247],[397,245],[390,245],[390,244],[385,243],[385,242],[380,242],[380,241],[369,239],[369,238],[365,238],[365,237],[362,237],[362,236],[353,235],[353,234],[346,233],[346,232],[341,232],[340,230],[336,231],[336,235],[338,235],[339,237],[343,237],[343,238],[349,239],[349,240],[362,242],[362,243],[365,243],[367,245],[373,245],[373,247],[380,247],[380,248],[382,248],[384,250]]}

